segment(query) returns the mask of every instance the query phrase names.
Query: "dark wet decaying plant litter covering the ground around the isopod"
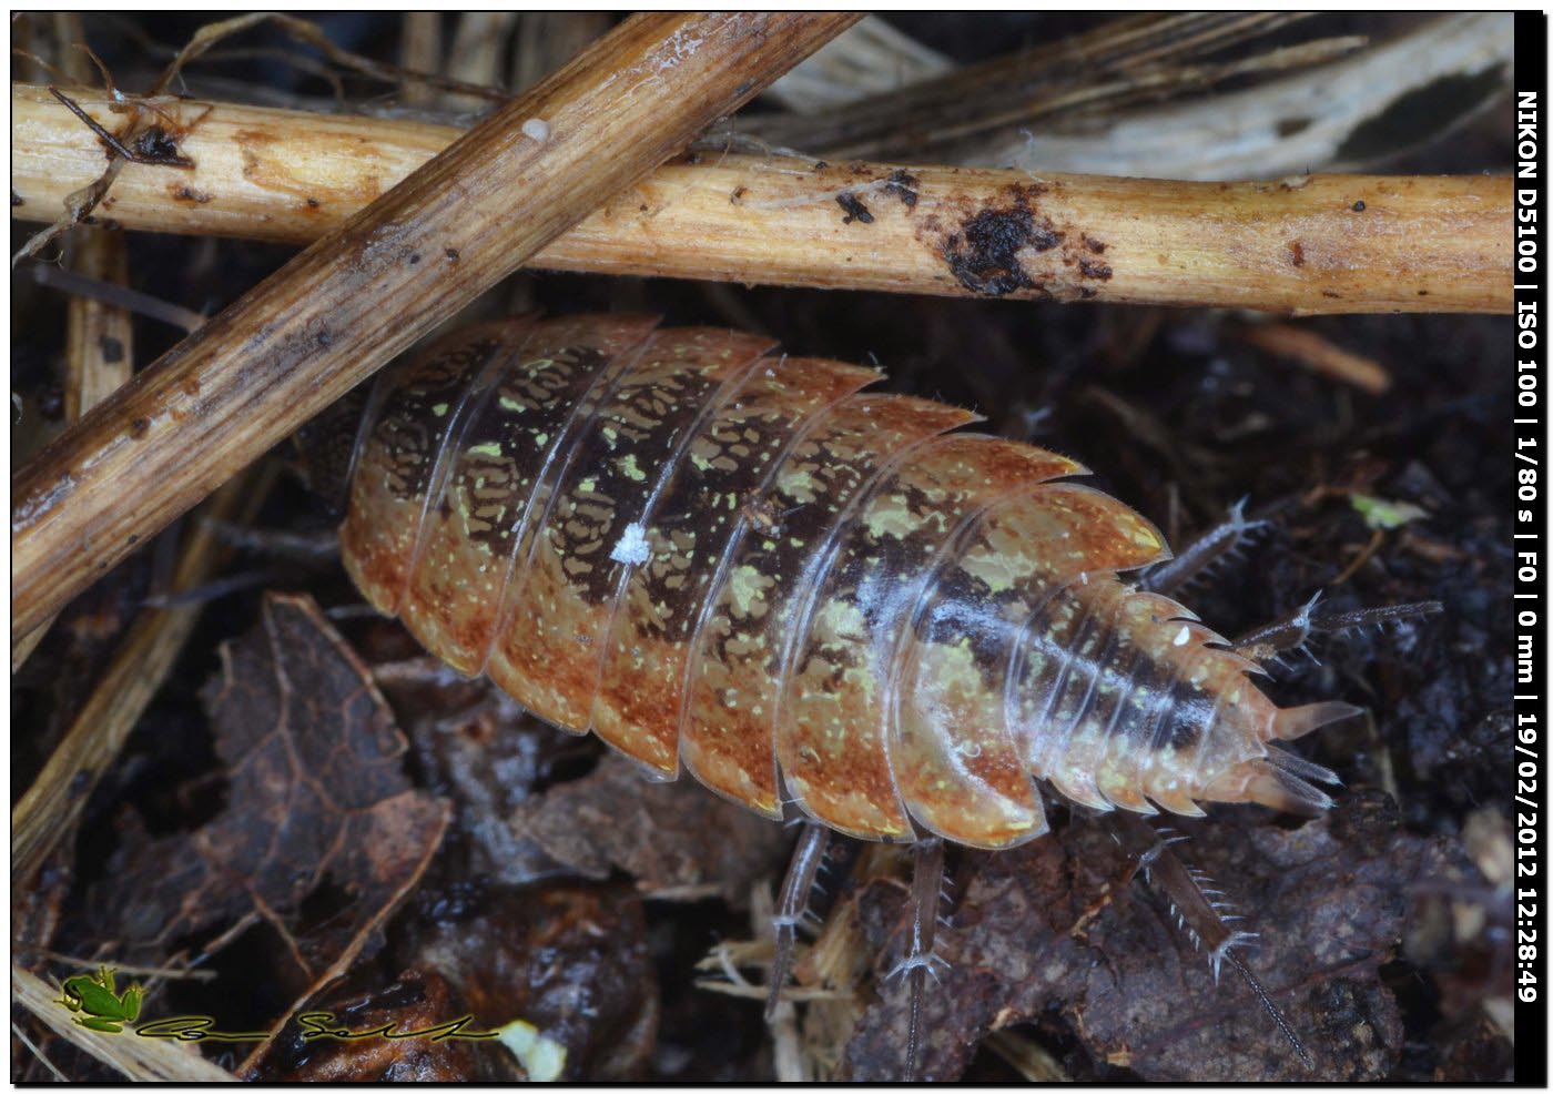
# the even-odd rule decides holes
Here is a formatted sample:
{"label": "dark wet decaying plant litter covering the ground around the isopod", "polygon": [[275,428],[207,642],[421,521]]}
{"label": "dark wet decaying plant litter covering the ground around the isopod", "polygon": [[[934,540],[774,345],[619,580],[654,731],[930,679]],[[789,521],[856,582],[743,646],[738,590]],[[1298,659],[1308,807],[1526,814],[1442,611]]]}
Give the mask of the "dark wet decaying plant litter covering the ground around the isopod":
{"label": "dark wet decaying plant litter covering the ground around the isopod", "polygon": [[[1016,37],[1093,33],[1027,19]],[[151,78],[135,82],[137,67],[154,73],[166,54],[135,36],[110,53],[110,33],[90,17],[84,23],[126,93],[152,85]],[[149,17],[130,25],[168,42],[193,30]],[[954,59],[946,64],[1006,51],[1006,37],[978,40],[947,17],[943,25],[933,42]],[[481,26],[514,36],[509,42],[525,40],[525,28],[536,40],[540,34],[528,16]],[[19,45],[30,54],[57,57],[51,23],[23,19],[12,30],[28,36]],[[494,71],[517,90],[564,61],[517,48],[511,65],[489,56],[460,61],[450,47],[478,36],[452,19],[430,28],[447,50],[426,48],[424,23],[407,23],[401,37],[398,20],[384,17],[331,22],[325,31],[348,56],[382,68],[342,67],[346,54],[318,61],[276,33],[258,39],[270,62],[276,53],[286,65],[300,59],[301,75],[262,70],[264,59],[222,44],[188,67],[188,89],[295,109],[339,85],[351,112],[413,103],[415,126],[466,127],[485,107],[449,98],[460,89],[447,81],[485,81]],[[1256,48],[1351,34],[1384,44],[1404,31],[1419,26],[1295,20],[1269,28]],[[542,34],[564,50],[575,40],[548,23]],[[857,56],[888,48],[887,36],[870,40],[873,53]],[[1146,34],[1141,40],[1137,48],[1148,48]],[[407,79],[402,98],[373,101],[384,87],[401,90],[368,82],[401,79],[393,68],[407,56],[401,45],[421,48],[430,62],[405,64],[433,67],[443,82]],[[328,67],[331,79],[307,65]],[[933,70],[930,61],[910,71]],[[837,70],[845,67],[828,71]],[[20,75],[54,79],[36,68]],[[862,84],[877,92],[881,78],[874,71]],[[1211,101],[1186,98],[1182,110]],[[1174,106],[1121,96],[1086,115],[1086,132]],[[822,109],[843,107],[840,99],[812,107]],[[783,143],[809,151],[797,121],[781,124]],[[1508,140],[1489,112],[1452,146],[1378,169],[1496,171],[1508,163]],[[719,155],[674,169],[728,169]],[[767,160],[744,146],[739,155]],[[174,169],[166,171],[171,180]],[[104,202],[112,197],[109,190]],[[735,208],[728,196],[722,200]],[[905,208],[887,186],[857,200],[877,219],[868,225],[854,216],[848,232]],[[210,208],[196,199],[174,204]],[[845,210],[834,200],[828,208],[840,224]],[[112,219],[112,211],[98,216]],[[28,227],[14,230],[14,249],[28,235]],[[205,314],[290,253],[134,230],[113,239],[127,250],[130,287]],[[964,270],[983,283],[1008,275],[995,263],[968,261]],[[65,298],[36,284],[25,266],[16,294],[12,390],[22,423],[14,462],[64,424],[67,390],[70,398],[85,390],[62,367]],[[1508,1074],[1510,841],[1492,803],[1496,757],[1511,732],[1500,595],[1510,558],[1499,499],[1477,472],[1510,398],[1494,367],[1506,320],[1331,317],[1292,320],[1286,326],[1297,334],[1283,336],[1210,311],[520,274],[460,322],[514,305],[658,311],[676,323],[758,329],[795,353],[873,356],[893,375],[890,390],[977,406],[991,416],[988,429],[1082,458],[1098,485],[1177,542],[1249,496],[1270,521],[1267,535],[1250,563],[1228,563],[1193,589],[1193,606],[1227,632],[1318,589],[1339,608],[1443,600],[1444,612],[1427,622],[1322,642],[1314,660],[1295,656],[1277,679],[1283,702],[1337,698],[1373,712],[1311,741],[1309,757],[1343,779],[1334,811],[1301,822],[1214,810],[1179,825],[1191,841],[1177,848],[1261,931],[1252,967],[1311,1047],[1320,1077]],[[137,317],[132,359],[143,365],[175,337]],[[236,507],[227,519],[298,536],[326,530],[317,503],[284,472],[287,458],[286,449],[266,457],[264,477],[275,480],[267,500],[252,517]],[[141,604],[182,587],[189,570],[175,570],[180,539],[186,556],[200,535],[219,539],[185,521],[107,570],[20,667],[12,800],[81,721],[84,704],[109,699],[93,692],[115,671],[132,628],[171,618]],[[207,561],[217,555],[207,552]],[[43,1080],[51,1069],[112,1078],[130,1068],[196,1077],[179,1071],[189,1050],[157,1046],[179,1058],[104,1061],[81,1050],[84,1032],[68,1021],[34,1018],[47,1010],[47,991],[79,971],[59,956],[151,970],[134,976],[148,987],[149,1015],[213,1015],[222,1029],[278,1030],[264,1049],[199,1049],[207,1066],[242,1078],[502,1080],[551,1064],[578,1078],[899,1074],[904,998],[885,982],[904,942],[898,852],[832,850],[823,922],[794,970],[800,1002],[769,1032],[756,998],[770,943],[752,917],[759,920],[761,894],[780,875],[790,831],[694,785],[646,783],[592,738],[556,733],[485,685],[439,670],[398,625],[363,615],[328,561],[245,547],[199,580],[231,592],[180,617],[186,637],[174,642],[180,653],[168,657],[165,684],[127,740],[115,740],[84,777],[62,779],[70,808],[50,814],[61,817],[61,838],[20,876],[12,959],[37,977],[23,987],[42,995],[23,991],[12,1009],[14,1037],[26,1038],[14,1043],[14,1078]],[[1050,838],[1017,852],[950,855],[952,904],[940,934],[950,968],[927,998],[924,1074],[1303,1077],[1244,988],[1228,977],[1214,985],[1160,901],[1132,880],[1103,820],[1054,810],[1053,822]],[[699,985],[707,981],[727,990]],[[519,1021],[559,1055],[525,1064],[506,1046],[475,1041],[320,1047],[300,1040],[303,1009],[346,1015],[360,1027],[413,1029],[466,1013],[480,1029]]]}

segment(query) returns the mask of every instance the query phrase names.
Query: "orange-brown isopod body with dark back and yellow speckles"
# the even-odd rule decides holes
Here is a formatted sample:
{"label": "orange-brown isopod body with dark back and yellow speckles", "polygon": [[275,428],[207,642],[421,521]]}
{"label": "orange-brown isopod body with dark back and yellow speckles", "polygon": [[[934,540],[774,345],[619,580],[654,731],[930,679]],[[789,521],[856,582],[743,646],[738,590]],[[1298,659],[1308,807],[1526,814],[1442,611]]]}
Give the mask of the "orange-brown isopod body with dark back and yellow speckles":
{"label": "orange-brown isopod body with dark back and yellow speckles", "polygon": [[1095,808],[1322,805],[1252,660],[1117,575],[1160,533],[867,368],[631,315],[461,331],[374,387],[346,567],[435,654],[770,817],[1009,847]]}

